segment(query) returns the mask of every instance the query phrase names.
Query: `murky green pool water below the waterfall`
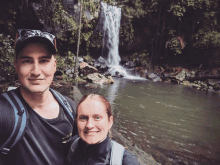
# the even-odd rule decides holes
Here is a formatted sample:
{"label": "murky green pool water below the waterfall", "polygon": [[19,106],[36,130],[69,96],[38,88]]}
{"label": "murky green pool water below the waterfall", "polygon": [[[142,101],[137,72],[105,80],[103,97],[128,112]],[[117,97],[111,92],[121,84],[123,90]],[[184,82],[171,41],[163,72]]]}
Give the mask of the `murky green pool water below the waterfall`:
{"label": "murky green pool water below the waterfall", "polygon": [[220,164],[220,95],[175,84],[114,79],[104,95],[114,128],[163,164]]}

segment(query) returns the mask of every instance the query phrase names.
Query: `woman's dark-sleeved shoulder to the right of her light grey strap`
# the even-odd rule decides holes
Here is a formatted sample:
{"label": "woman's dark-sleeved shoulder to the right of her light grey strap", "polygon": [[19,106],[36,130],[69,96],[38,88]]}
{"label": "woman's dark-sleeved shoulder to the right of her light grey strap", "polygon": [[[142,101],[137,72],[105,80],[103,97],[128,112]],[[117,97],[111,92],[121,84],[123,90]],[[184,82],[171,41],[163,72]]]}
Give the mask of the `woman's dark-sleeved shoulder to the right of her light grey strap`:
{"label": "woman's dark-sleeved shoulder to the right of her light grey strap", "polygon": [[122,165],[140,165],[137,156],[125,149]]}

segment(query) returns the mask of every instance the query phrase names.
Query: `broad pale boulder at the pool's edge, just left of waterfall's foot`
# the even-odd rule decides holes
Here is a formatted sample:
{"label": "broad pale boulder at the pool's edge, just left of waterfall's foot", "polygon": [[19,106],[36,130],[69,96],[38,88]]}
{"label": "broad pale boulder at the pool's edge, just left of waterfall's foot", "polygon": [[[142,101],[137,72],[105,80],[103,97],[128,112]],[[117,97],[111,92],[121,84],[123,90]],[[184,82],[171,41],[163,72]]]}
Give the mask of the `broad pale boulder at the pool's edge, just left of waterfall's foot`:
{"label": "broad pale boulder at the pool's edge, just left of waterfall's foot", "polygon": [[92,73],[87,75],[87,79],[89,82],[95,83],[95,84],[109,84],[109,80],[101,75],[100,73]]}

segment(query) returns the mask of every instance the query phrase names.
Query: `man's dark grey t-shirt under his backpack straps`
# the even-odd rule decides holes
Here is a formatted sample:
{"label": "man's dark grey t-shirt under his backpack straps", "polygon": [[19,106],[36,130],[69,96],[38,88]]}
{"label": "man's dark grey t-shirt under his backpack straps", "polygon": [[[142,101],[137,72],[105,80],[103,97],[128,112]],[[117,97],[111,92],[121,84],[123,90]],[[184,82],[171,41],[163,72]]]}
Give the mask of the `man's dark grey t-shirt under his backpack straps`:
{"label": "man's dark grey t-shirt under his backpack straps", "polygon": [[[20,92],[19,92],[20,95]],[[21,97],[21,95],[20,95]],[[23,100],[23,98],[21,98]],[[70,103],[73,110],[75,110],[75,103],[66,98]],[[23,100],[24,101],[24,100]],[[0,104],[5,103],[0,101]],[[7,104],[7,103],[5,103]],[[7,165],[62,165],[66,158],[69,148],[69,139],[72,134],[76,132],[73,125],[67,118],[64,109],[60,106],[60,112],[57,118],[44,119],[38,115],[27,103],[25,102],[29,122],[25,130],[23,139],[10,151],[8,155],[0,155],[0,159],[4,160]],[[10,105],[7,105],[10,106]],[[3,106],[5,107],[5,106]],[[0,105],[0,145],[6,138],[4,132],[12,129],[12,126],[5,127],[5,117]],[[10,113],[8,116],[13,116],[13,111],[8,108]],[[5,113],[6,114],[6,113]]]}

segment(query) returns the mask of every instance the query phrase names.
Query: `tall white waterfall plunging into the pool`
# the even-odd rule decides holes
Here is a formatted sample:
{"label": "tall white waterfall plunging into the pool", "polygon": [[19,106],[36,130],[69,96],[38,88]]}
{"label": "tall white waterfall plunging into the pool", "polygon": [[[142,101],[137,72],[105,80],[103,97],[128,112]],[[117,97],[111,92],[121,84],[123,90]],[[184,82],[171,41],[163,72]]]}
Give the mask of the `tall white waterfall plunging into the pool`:
{"label": "tall white waterfall plunging into the pool", "polygon": [[108,71],[112,75],[119,73],[125,78],[136,79],[137,77],[129,75],[119,65],[121,61],[118,51],[121,8],[101,2],[101,12],[103,16],[103,44],[108,49],[107,65],[110,68]]}

